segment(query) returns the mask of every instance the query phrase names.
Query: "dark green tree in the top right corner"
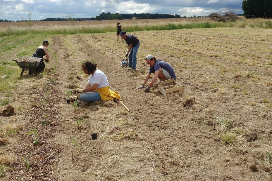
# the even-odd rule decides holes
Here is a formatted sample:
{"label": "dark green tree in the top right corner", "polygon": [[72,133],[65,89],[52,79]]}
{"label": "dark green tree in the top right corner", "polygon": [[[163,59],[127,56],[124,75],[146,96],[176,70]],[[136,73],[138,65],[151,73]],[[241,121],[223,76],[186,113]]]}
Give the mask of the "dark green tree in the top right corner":
{"label": "dark green tree in the top right corner", "polygon": [[271,0],[243,0],[242,9],[246,18],[272,18]]}

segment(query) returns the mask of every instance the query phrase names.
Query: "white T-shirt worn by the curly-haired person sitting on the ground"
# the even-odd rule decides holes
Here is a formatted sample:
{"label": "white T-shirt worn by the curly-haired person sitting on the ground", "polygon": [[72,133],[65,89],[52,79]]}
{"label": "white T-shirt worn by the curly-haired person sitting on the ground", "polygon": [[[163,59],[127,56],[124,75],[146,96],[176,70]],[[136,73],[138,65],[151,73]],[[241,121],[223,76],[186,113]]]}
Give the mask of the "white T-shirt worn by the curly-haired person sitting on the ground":
{"label": "white T-shirt worn by the curly-haired person sitting on the ground", "polygon": [[110,86],[107,76],[101,70],[95,70],[94,75],[90,75],[88,83],[91,84],[91,86],[94,83],[98,83],[97,88]]}

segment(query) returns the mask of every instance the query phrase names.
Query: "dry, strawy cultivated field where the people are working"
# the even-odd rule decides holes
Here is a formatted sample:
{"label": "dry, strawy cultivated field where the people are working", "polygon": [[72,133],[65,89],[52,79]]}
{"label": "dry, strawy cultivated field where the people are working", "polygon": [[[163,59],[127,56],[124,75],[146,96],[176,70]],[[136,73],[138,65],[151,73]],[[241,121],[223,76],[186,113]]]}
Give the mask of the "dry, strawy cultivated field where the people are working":
{"label": "dry, strawy cultivated field where the people are working", "polygon": [[[1,37],[0,108],[15,114],[0,116],[0,180],[272,180],[271,29],[128,33],[140,40],[134,72],[120,66],[126,44],[116,32]],[[46,70],[20,77],[11,60],[44,39]],[[147,54],[173,66],[183,96],[165,98],[157,83],[149,93],[136,89]],[[66,103],[87,82],[85,60],[130,112],[112,101]]]}

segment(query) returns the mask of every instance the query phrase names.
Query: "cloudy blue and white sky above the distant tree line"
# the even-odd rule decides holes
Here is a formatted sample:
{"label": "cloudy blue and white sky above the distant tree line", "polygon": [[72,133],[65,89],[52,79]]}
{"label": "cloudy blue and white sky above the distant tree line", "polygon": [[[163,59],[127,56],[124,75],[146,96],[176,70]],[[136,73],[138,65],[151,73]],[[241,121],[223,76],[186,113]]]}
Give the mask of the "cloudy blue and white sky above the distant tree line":
{"label": "cloudy blue and white sky above the distant tree line", "polygon": [[92,18],[102,12],[208,16],[228,9],[242,14],[243,0],[0,0],[0,19]]}

